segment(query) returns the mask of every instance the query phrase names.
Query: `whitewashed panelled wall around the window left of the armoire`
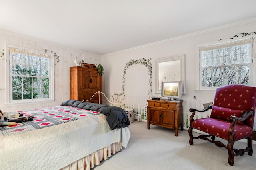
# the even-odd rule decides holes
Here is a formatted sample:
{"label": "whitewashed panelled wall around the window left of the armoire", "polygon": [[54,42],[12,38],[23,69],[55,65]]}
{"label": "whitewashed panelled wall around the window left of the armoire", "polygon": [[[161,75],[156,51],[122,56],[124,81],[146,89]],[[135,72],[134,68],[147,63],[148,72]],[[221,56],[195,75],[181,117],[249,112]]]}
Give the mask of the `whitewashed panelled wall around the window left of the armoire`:
{"label": "whitewashed panelled wall around the window left of the armoire", "polygon": [[[30,103],[13,106],[6,104],[6,76],[8,76],[8,71],[6,70],[6,64],[8,63],[6,59],[8,58],[8,56],[5,55],[4,57],[0,57],[0,107],[2,111],[21,111],[49,106],[59,106],[65,100],[69,100],[69,68],[71,66],[75,66],[75,56],[77,56],[79,61],[82,60],[83,56],[85,63],[101,63],[100,55],[88,53],[86,51],[80,51],[77,49],[71,49],[39,39],[33,39],[23,35],[0,30],[0,52],[2,52],[2,49],[4,49],[5,54],[7,51],[6,44],[35,49],[42,52],[44,51],[44,49],[48,49],[49,51],[53,51],[54,53],[56,53],[56,55],[59,56],[60,61],[58,63],[56,63],[55,61],[56,65],[54,66],[54,102],[44,102],[39,104]],[[48,54],[50,54],[50,52],[48,52]]]}

